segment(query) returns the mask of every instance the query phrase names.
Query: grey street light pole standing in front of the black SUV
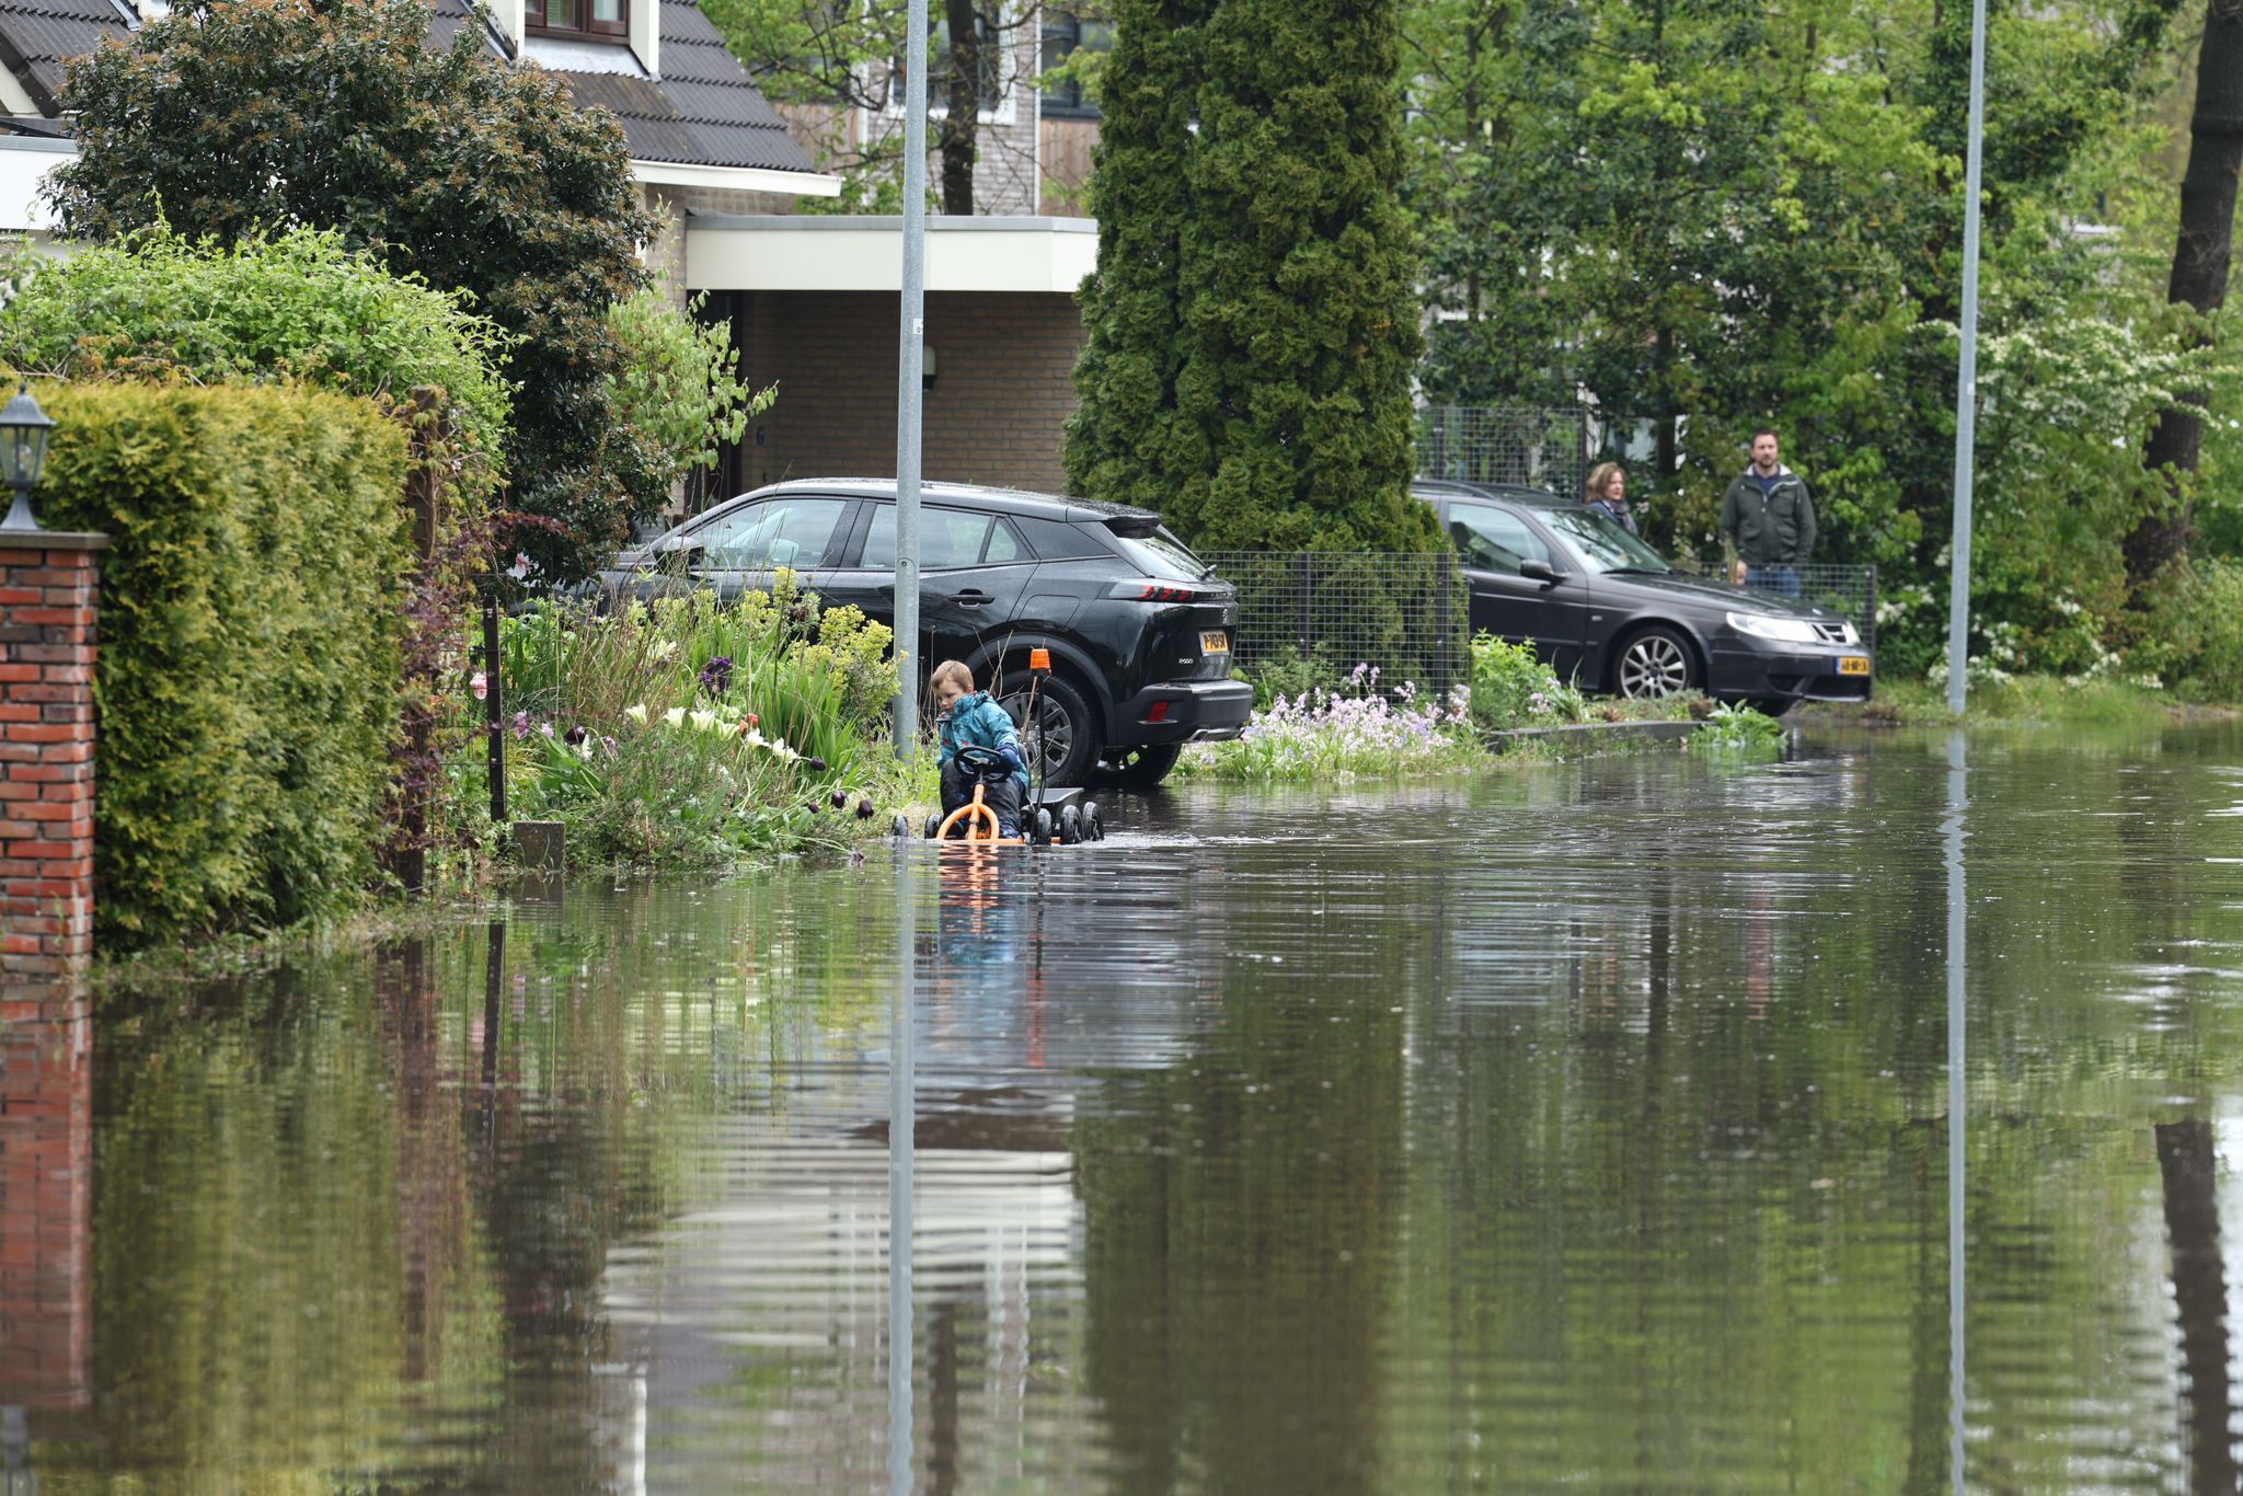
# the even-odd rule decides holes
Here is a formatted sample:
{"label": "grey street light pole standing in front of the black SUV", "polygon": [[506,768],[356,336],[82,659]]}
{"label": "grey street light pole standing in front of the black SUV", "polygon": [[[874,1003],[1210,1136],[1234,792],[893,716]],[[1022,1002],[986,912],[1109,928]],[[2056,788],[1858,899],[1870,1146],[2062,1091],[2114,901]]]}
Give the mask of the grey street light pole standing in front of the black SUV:
{"label": "grey street light pole standing in front of the black SUV", "polygon": [[926,0],[904,27],[904,318],[895,359],[895,754],[920,740],[920,359],[926,348]]}

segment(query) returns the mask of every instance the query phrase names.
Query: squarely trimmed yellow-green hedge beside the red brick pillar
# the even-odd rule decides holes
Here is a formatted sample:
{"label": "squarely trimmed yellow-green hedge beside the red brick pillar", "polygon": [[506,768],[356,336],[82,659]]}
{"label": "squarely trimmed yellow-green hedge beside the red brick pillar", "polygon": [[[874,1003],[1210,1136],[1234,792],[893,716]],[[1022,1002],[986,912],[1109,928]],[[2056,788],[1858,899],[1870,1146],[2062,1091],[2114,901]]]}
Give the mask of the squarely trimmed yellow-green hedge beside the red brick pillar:
{"label": "squarely trimmed yellow-green hedge beside the red brick pillar", "polygon": [[40,523],[110,536],[96,940],[348,902],[375,870],[399,713],[404,431],[301,386],[38,395]]}

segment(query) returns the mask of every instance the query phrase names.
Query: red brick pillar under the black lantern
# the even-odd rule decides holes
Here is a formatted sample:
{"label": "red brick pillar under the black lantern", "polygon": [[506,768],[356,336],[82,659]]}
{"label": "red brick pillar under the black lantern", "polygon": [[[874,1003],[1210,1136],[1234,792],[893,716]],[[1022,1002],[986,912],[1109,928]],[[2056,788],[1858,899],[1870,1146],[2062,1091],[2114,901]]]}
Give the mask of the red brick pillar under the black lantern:
{"label": "red brick pillar under the black lantern", "polygon": [[0,980],[94,949],[94,599],[105,536],[0,534]]}

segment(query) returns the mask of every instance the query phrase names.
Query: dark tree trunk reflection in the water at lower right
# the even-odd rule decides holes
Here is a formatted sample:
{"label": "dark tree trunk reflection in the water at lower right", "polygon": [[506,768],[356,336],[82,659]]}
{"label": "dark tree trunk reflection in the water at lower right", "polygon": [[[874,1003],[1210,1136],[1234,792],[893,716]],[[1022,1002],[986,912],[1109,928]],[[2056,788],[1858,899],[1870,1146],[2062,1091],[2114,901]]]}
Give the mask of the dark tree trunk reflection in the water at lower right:
{"label": "dark tree trunk reflection in the water at lower right", "polygon": [[[2225,265],[2221,269],[2225,274]],[[2221,1254],[2212,1124],[2200,1117],[2160,1121],[2156,1133],[2158,1171],[2164,1175],[2164,1231],[2173,1247],[2180,1370],[2187,1377],[2182,1420],[2189,1431],[2189,1489],[2232,1492],[2236,1460],[2227,1438],[2227,1269]]]}

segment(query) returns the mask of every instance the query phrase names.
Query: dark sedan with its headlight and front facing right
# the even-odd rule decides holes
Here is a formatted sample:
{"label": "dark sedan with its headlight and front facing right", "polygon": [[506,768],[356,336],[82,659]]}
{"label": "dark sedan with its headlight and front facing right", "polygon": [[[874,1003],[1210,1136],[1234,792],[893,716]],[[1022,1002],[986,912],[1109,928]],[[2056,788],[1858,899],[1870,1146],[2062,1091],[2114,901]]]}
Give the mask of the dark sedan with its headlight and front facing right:
{"label": "dark sedan with its headlight and front facing right", "polygon": [[1415,493],[1456,543],[1471,630],[1532,644],[1584,689],[1705,691],[1770,713],[1868,698],[1868,648],[1828,608],[1678,572],[1602,514],[1539,489],[1420,480]]}

